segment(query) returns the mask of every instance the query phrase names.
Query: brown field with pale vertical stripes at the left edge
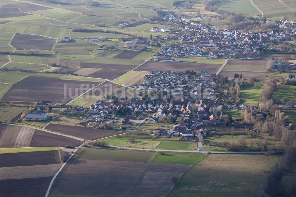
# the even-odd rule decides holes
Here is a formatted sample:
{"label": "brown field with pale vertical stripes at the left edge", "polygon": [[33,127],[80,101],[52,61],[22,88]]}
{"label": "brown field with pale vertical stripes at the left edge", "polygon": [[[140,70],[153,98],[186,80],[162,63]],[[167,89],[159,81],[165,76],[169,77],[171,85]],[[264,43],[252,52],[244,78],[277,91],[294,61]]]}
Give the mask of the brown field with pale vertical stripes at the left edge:
{"label": "brown field with pale vertical stripes at the left edge", "polygon": [[28,147],[34,129],[0,125],[0,148]]}

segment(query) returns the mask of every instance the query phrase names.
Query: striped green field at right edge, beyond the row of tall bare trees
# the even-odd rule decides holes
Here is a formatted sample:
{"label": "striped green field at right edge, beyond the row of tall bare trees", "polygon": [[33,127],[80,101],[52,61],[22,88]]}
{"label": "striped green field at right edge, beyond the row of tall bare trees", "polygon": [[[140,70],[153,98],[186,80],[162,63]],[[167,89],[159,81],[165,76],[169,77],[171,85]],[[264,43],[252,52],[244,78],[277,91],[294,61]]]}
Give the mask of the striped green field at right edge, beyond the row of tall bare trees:
{"label": "striped green field at right edge, beyond the row of tall bare trees", "polygon": [[296,86],[295,85],[280,85],[276,88],[276,91],[274,91],[272,97],[274,102],[277,102],[281,99],[284,99],[284,101],[287,103],[291,99],[296,98]]}

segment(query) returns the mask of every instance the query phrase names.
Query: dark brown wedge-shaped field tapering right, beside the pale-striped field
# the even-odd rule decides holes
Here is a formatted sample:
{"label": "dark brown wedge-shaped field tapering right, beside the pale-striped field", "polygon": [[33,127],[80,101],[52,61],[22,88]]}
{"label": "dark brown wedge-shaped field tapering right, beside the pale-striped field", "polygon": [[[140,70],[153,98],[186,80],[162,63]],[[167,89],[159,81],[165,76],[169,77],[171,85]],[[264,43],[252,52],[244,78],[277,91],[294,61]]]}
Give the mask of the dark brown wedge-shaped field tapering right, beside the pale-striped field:
{"label": "dark brown wedge-shaped field tapering right, beside the pale-striped field", "polygon": [[68,138],[62,135],[55,135],[44,131],[36,130],[30,147],[46,147],[46,146],[80,146],[82,141]]}

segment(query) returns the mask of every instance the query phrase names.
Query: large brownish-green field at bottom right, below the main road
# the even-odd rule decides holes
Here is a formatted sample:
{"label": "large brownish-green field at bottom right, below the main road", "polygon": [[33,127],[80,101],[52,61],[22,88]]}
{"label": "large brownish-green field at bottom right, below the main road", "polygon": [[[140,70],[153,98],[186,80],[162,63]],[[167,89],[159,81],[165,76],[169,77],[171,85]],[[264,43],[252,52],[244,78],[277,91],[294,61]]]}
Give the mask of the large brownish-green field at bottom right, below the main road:
{"label": "large brownish-green field at bottom right, below the main road", "polygon": [[278,159],[273,155],[210,154],[187,170],[168,196],[251,196],[253,186]]}

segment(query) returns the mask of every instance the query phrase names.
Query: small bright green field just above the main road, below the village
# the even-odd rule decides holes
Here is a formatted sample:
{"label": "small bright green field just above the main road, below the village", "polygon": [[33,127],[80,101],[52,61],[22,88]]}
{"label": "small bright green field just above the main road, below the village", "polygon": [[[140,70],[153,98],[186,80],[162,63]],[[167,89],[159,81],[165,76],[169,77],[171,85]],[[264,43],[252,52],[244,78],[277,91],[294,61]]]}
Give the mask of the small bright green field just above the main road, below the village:
{"label": "small bright green field just above the main road, below the village", "polygon": [[171,150],[196,150],[196,142],[183,141],[162,141],[156,149],[171,149]]}

